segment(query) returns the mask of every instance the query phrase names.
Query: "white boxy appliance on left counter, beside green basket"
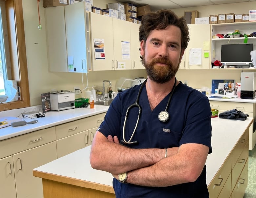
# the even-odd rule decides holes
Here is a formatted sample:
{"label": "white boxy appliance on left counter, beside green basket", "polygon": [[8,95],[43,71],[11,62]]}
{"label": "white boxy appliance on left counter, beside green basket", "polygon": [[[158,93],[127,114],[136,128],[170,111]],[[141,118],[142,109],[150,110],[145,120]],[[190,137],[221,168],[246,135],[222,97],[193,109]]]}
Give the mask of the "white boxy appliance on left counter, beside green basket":
{"label": "white boxy appliance on left counter, beside green basket", "polygon": [[51,110],[61,111],[75,108],[75,92],[68,90],[50,93]]}

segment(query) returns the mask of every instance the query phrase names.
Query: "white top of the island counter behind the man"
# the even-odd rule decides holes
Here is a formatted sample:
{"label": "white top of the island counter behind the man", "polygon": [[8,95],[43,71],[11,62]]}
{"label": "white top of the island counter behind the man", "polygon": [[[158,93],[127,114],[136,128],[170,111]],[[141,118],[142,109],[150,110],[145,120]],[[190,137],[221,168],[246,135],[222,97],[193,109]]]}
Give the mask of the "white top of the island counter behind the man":
{"label": "white top of the island counter behind the man", "polygon": [[[247,118],[245,121],[212,118],[213,152],[208,155],[206,161],[207,186],[252,120],[252,118]],[[110,173],[91,168],[90,149],[91,146],[85,147],[34,170],[112,186],[113,177]]]}

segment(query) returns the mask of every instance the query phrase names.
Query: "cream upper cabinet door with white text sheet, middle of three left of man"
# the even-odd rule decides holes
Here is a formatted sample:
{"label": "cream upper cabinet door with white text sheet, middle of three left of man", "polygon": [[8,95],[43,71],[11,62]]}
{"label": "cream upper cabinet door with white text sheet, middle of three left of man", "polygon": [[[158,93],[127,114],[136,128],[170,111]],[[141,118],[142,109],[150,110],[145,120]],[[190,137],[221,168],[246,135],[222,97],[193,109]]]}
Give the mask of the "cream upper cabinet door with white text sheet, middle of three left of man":
{"label": "cream upper cabinet door with white text sheet, middle of three left of man", "polygon": [[132,69],[129,21],[113,18],[115,70]]}

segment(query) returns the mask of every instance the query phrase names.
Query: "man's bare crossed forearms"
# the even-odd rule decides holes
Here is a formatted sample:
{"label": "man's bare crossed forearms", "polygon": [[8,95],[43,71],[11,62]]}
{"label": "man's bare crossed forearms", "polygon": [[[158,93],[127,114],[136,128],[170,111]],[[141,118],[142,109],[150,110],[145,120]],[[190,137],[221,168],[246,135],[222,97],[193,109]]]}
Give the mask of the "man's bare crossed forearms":
{"label": "man's bare crossed forearms", "polygon": [[91,149],[92,168],[118,174],[128,172],[127,183],[164,187],[195,181],[201,174],[209,147],[189,143],[179,148],[131,149],[119,144],[118,138],[97,132]]}

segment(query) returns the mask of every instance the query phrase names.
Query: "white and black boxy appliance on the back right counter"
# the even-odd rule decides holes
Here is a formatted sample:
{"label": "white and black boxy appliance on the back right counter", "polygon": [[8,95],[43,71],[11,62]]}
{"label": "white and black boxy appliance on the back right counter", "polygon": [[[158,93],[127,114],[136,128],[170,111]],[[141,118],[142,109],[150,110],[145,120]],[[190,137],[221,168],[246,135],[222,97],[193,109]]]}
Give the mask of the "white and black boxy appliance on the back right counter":
{"label": "white and black boxy appliance on the back right counter", "polygon": [[256,73],[241,73],[241,96],[242,99],[254,99],[256,93]]}

